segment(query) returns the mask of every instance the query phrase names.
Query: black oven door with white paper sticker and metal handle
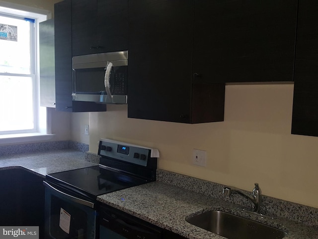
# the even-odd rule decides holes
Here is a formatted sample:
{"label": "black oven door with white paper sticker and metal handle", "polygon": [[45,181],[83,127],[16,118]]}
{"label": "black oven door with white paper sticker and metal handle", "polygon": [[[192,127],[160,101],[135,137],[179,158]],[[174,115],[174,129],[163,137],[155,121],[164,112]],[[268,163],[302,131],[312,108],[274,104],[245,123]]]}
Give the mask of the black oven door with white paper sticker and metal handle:
{"label": "black oven door with white paper sticker and metal handle", "polygon": [[45,185],[45,238],[96,239],[95,202],[51,182]]}

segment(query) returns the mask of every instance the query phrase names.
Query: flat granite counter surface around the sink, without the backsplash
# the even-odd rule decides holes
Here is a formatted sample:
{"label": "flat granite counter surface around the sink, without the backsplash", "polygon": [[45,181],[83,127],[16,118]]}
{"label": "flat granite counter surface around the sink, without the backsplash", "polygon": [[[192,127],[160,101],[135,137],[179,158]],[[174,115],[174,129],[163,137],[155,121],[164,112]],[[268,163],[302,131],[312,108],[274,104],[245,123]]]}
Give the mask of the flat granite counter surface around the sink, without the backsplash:
{"label": "flat granite counter surface around the sink, without the backsplash", "polygon": [[288,233],[284,239],[318,239],[318,228],[283,218],[271,219],[238,210],[238,205],[181,187],[156,181],[117,192],[97,200],[188,239],[224,239],[193,226],[187,217],[209,210],[221,210],[253,219]]}

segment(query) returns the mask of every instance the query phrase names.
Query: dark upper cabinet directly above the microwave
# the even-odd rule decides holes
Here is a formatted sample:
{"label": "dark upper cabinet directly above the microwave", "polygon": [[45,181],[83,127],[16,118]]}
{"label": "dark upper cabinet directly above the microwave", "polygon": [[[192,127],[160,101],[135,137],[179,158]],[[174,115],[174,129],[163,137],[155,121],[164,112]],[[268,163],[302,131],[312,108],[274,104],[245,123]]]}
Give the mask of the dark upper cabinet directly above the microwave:
{"label": "dark upper cabinet directly above the microwave", "polygon": [[128,0],[72,0],[73,56],[128,49]]}

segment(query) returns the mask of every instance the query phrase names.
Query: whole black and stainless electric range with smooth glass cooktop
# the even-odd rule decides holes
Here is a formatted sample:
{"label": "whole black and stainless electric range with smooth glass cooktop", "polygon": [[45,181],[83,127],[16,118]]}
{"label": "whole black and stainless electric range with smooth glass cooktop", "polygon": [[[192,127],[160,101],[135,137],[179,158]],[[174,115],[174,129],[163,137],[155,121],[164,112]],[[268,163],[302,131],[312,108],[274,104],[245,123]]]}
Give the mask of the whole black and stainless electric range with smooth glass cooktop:
{"label": "whole black and stainless electric range with smooth glass cooktop", "polygon": [[48,239],[96,239],[97,196],[156,181],[158,149],[101,138],[98,166],[46,175]]}

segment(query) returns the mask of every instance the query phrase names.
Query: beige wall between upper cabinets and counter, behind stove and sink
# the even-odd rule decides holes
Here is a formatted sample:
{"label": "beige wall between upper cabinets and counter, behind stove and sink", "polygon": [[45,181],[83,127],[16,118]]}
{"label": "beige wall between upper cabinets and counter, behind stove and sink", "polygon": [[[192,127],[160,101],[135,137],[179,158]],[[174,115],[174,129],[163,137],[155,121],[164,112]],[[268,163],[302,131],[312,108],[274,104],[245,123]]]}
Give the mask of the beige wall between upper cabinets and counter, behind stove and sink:
{"label": "beige wall between upper cabinets and counter, behind stove and sink", "polygon": [[[202,124],[128,119],[127,106],[108,105],[89,113],[89,151],[100,137],[155,147],[161,169],[245,190],[258,182],[265,195],[318,208],[318,137],[291,134],[292,102],[293,85],[227,86],[224,122]],[[207,167],[192,165],[194,148]]]}

